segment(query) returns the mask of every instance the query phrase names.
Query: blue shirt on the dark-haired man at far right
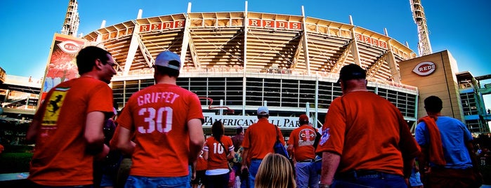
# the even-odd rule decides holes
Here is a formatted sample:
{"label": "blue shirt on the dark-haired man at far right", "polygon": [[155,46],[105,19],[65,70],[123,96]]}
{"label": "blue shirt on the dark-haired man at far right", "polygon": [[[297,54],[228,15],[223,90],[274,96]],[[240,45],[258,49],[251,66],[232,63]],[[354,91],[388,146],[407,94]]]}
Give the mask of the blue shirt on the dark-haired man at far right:
{"label": "blue shirt on the dark-haired man at far right", "polygon": [[[436,126],[438,126],[442,137],[443,155],[447,162],[445,168],[471,168],[472,161],[466,142],[473,140],[473,137],[466,125],[458,119],[438,116]],[[426,146],[429,144],[426,123],[423,121],[418,123],[414,132],[419,145]],[[434,166],[433,164],[430,165]]]}

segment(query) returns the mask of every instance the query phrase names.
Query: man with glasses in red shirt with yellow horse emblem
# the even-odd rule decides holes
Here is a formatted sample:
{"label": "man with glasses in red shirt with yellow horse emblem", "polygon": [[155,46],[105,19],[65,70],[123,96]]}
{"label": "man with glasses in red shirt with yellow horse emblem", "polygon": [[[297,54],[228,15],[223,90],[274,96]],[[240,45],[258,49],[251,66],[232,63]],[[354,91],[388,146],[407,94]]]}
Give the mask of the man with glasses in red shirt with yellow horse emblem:
{"label": "man with glasses in red shirt with yellow horse emblem", "polygon": [[103,123],[113,115],[107,84],[115,66],[109,52],[88,46],[77,55],[80,77],[48,92],[26,135],[36,144],[30,187],[92,187],[94,156],[109,152]]}

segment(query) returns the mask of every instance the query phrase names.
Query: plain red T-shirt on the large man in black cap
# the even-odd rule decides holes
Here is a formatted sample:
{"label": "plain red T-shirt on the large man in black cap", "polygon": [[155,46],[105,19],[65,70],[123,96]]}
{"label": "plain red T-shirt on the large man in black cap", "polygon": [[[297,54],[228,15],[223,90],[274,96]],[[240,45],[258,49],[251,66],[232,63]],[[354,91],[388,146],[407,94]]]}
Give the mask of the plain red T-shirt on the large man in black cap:
{"label": "plain red T-shirt on the large man in black cap", "polygon": [[332,101],[316,152],[325,151],[341,155],[338,172],[402,175],[402,156],[419,147],[399,109],[375,93],[355,91]]}

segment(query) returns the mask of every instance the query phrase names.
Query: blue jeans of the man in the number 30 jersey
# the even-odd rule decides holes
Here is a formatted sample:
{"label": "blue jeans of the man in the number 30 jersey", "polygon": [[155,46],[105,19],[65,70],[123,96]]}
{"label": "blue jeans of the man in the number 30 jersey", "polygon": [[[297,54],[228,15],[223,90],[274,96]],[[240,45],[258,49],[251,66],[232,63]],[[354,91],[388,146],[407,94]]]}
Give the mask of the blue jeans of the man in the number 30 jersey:
{"label": "blue jeans of the man in the number 30 jersey", "polygon": [[129,175],[125,188],[133,187],[191,187],[191,178],[189,175],[181,177],[143,177]]}

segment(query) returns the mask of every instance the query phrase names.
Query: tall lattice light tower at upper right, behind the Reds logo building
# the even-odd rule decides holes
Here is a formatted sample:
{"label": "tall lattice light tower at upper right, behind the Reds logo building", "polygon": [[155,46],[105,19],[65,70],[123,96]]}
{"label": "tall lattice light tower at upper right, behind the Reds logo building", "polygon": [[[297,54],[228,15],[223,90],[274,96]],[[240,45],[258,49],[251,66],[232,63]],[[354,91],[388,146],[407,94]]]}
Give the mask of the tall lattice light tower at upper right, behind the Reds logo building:
{"label": "tall lattice light tower at upper right, behind the Reds logo building", "polygon": [[418,27],[418,52],[419,56],[433,53],[428,34],[428,25],[426,25],[426,16],[424,8],[421,6],[421,0],[410,0],[412,18]]}

